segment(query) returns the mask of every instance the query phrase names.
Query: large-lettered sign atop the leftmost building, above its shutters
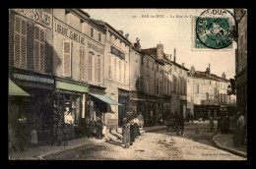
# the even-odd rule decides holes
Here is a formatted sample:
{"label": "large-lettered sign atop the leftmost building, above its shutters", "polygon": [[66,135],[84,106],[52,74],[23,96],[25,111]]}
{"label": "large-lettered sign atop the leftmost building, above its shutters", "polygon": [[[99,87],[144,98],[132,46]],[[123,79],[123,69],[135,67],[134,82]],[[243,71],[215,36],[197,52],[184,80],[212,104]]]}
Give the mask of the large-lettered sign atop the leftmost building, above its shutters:
{"label": "large-lettered sign atop the leftmost building, above its shutters", "polygon": [[14,9],[14,11],[47,28],[52,26],[52,16],[41,9]]}

